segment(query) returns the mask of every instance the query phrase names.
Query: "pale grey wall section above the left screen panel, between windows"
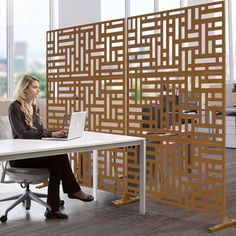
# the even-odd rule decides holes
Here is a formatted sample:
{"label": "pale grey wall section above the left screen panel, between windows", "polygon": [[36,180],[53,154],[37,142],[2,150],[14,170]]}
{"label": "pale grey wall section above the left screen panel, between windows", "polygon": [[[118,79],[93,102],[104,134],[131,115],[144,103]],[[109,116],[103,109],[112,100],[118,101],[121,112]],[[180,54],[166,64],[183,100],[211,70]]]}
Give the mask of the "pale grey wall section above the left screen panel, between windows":
{"label": "pale grey wall section above the left screen panel, between windows", "polygon": [[99,22],[100,0],[58,0],[59,28]]}

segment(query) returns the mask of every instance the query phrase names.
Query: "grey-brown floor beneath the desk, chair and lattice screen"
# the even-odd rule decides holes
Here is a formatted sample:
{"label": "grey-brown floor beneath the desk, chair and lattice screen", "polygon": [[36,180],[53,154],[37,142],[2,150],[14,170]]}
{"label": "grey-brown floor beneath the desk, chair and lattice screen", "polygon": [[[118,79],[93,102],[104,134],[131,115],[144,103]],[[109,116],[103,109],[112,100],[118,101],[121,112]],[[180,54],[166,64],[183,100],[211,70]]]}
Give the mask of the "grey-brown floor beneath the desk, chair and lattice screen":
{"label": "grey-brown floor beneath the desk, chair and lattice screen", "polygon": [[[92,193],[92,189],[83,188]],[[0,198],[22,191],[16,184],[0,184]],[[37,190],[38,191],[38,190]],[[40,190],[45,192],[46,189]],[[138,212],[138,203],[123,207],[111,205],[117,199],[111,193],[99,191],[98,202],[84,203],[78,200],[65,200],[64,211],[68,220],[45,220],[44,207],[32,203],[30,211],[23,205],[17,206],[8,215],[8,221],[0,224],[0,235],[10,236],[195,236],[195,235],[236,235],[236,226],[217,233],[208,228],[222,219],[206,213],[199,213],[165,204],[147,201],[146,215]],[[0,203],[0,214],[10,202]],[[227,214],[236,218],[236,149],[227,149]]]}

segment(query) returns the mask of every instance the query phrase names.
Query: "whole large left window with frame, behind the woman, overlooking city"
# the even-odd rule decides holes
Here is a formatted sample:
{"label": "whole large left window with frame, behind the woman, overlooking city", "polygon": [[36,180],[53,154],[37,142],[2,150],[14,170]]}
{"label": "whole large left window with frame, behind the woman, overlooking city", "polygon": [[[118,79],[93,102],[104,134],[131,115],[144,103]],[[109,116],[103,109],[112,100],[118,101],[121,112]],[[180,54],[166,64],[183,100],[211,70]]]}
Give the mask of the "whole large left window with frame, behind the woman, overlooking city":
{"label": "whole large left window with frame, behind the woman, overlooking city", "polygon": [[17,80],[26,73],[40,80],[44,97],[46,31],[55,25],[57,0],[0,1],[0,99],[12,96]]}

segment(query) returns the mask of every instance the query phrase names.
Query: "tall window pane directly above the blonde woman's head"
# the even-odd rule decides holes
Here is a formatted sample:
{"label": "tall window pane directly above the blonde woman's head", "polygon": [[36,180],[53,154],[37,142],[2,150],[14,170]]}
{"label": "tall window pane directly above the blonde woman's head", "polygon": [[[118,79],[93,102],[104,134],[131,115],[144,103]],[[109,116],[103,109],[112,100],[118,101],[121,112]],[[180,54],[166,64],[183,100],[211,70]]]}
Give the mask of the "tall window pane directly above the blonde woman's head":
{"label": "tall window pane directly above the blonde woman's head", "polygon": [[46,31],[49,1],[14,1],[14,77],[23,74],[40,80],[41,97],[46,93]]}

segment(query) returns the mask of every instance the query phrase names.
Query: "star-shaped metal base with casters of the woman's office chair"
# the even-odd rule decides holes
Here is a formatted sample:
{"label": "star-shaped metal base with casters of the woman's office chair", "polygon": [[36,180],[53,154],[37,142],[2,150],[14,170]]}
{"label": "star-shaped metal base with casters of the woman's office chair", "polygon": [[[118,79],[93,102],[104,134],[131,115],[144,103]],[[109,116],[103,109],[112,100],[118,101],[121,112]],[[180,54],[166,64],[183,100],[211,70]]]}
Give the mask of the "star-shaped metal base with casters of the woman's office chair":
{"label": "star-shaped metal base with casters of the woman's office chair", "polygon": [[25,209],[29,210],[31,207],[31,200],[38,202],[39,204],[45,206],[49,211],[51,211],[51,207],[46,202],[44,202],[43,200],[39,198],[39,197],[46,197],[46,196],[47,195],[45,194],[31,192],[29,190],[29,186],[27,186],[25,193],[23,195],[16,195],[13,197],[0,200],[0,202],[2,202],[2,201],[7,201],[7,200],[14,200],[17,198],[17,200],[6,209],[5,214],[1,216],[0,221],[3,223],[6,222],[8,212],[12,210],[14,207],[16,207],[17,205],[19,205],[21,202],[25,202]]}

